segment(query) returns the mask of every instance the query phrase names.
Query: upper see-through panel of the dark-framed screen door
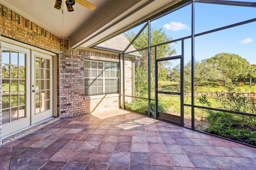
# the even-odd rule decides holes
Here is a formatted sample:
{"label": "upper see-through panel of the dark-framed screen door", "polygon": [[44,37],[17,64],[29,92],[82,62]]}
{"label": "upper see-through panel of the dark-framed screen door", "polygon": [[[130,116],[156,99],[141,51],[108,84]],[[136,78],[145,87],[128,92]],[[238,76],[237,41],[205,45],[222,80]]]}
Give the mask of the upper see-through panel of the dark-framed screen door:
{"label": "upper see-through panel of the dark-framed screen door", "polygon": [[180,93],[180,59],[158,61],[158,91]]}

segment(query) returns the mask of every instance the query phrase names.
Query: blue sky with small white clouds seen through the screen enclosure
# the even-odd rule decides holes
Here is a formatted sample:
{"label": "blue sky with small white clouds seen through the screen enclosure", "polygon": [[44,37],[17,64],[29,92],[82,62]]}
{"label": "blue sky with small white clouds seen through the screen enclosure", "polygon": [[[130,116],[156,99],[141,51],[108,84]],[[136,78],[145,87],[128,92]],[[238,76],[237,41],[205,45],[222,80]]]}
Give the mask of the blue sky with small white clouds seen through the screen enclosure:
{"label": "blue sky with small white clouds seen through the screen enclosure", "polygon": [[[253,7],[195,3],[195,34],[253,18],[256,18],[256,8]],[[141,27],[138,26],[129,32],[137,33]],[[174,40],[190,36],[191,5],[159,18],[151,23],[151,27],[162,28]],[[174,44],[174,48],[179,55],[180,43]],[[195,38],[195,59],[197,61],[222,52],[238,54],[246,58],[250,64],[256,64],[256,22]],[[191,40],[186,40],[185,63],[190,59]]]}

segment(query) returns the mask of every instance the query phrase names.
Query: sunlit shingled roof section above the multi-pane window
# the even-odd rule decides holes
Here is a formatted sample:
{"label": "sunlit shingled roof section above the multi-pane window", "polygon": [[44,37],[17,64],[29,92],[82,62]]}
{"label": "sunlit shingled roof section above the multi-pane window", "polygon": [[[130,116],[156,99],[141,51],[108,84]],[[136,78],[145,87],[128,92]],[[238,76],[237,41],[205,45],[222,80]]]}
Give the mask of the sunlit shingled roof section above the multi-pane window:
{"label": "sunlit shingled roof section above the multi-pane window", "polygon": [[[111,38],[110,40],[107,40],[96,46],[103,47],[106,49],[117,50],[117,51],[124,51],[124,49],[129,45],[129,43],[130,42],[127,40],[124,34],[119,34],[118,36]],[[126,52],[135,51],[135,50],[136,49],[134,48],[134,46],[130,45],[130,47],[127,49]],[[130,55],[140,56],[140,53],[136,51],[134,53],[130,53]]]}

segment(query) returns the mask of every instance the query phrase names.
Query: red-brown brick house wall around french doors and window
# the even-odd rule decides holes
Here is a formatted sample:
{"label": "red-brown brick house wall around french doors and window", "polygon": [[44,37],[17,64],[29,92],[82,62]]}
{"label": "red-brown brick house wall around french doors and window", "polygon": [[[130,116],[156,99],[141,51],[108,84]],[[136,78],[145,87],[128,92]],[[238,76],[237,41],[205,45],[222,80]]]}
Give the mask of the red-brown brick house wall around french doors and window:
{"label": "red-brown brick house wall around french doors and window", "polygon": [[[0,4],[0,35],[56,53],[58,116],[71,117],[106,108],[119,108],[118,94],[84,97],[84,59],[119,62],[118,54],[99,50],[69,50],[68,40],[58,38],[2,4]],[[0,56],[0,96],[2,96],[1,66]],[[129,86],[127,85],[126,89]],[[0,142],[2,141],[1,124],[2,97],[0,97]]]}

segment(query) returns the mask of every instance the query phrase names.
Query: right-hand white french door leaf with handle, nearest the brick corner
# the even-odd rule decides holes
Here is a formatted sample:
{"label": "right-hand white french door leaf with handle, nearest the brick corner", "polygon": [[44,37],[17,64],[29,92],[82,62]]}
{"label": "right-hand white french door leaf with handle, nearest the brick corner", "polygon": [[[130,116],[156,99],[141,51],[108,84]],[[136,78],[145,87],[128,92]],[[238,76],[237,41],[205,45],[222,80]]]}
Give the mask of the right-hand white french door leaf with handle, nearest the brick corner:
{"label": "right-hand white french door leaf with handle, nearest the brick corner", "polygon": [[32,51],[31,58],[31,123],[52,116],[52,56]]}

